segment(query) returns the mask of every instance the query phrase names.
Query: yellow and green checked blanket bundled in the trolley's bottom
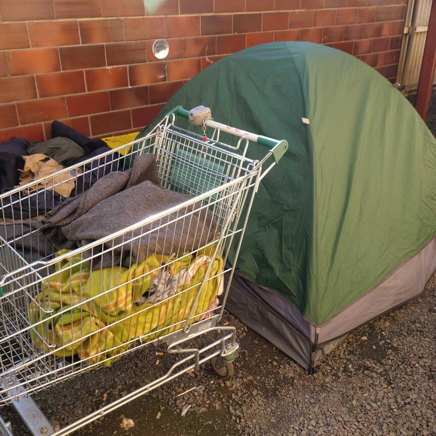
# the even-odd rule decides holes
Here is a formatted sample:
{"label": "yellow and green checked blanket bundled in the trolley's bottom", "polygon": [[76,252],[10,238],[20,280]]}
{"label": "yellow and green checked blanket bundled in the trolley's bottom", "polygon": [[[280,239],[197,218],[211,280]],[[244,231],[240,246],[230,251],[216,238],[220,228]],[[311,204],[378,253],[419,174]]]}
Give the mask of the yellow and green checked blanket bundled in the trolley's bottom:
{"label": "yellow and green checked blanket bundled in the trolley's bottom", "polygon": [[[182,328],[201,291],[191,322],[199,320],[222,285],[223,260],[207,255],[213,248],[195,255],[153,254],[130,268],[92,272],[80,254],[65,257],[70,250],[58,251],[56,256],[63,258],[29,307],[31,323],[39,322],[33,328],[34,345],[56,356],[77,355],[90,365],[109,366],[134,339],[148,342]],[[174,292],[163,293],[161,300],[157,295],[145,298],[162,272],[172,280]]]}

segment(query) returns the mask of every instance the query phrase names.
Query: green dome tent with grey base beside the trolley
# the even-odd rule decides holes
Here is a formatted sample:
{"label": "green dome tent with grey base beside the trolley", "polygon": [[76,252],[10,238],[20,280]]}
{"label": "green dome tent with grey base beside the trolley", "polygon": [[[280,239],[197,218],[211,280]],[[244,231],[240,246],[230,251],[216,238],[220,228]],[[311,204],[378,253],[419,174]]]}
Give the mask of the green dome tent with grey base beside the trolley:
{"label": "green dome tent with grey base beside the trolley", "polygon": [[177,105],[289,143],[239,253],[227,309],[242,322],[311,369],[422,292],[436,270],[436,141],[379,73],[329,47],[274,42],[206,68],[155,123]]}

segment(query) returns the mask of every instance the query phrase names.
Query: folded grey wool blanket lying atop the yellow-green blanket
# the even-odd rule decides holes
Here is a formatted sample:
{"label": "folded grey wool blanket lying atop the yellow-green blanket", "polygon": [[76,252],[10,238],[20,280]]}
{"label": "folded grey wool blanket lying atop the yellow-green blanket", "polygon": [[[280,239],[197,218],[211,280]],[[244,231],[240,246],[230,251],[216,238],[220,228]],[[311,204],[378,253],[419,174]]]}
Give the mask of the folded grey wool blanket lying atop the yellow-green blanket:
{"label": "folded grey wool blanket lying atop the yellow-green blanket", "polygon": [[[74,249],[190,199],[162,189],[155,156],[144,154],[135,159],[132,168],[109,173],[88,191],[51,210],[43,217],[40,232],[55,246]],[[217,224],[208,208],[197,210],[200,207],[201,202],[196,202],[98,244],[86,252],[91,257],[90,269],[128,267],[153,253],[171,255],[205,245],[214,238]],[[185,214],[188,215],[183,217]]]}

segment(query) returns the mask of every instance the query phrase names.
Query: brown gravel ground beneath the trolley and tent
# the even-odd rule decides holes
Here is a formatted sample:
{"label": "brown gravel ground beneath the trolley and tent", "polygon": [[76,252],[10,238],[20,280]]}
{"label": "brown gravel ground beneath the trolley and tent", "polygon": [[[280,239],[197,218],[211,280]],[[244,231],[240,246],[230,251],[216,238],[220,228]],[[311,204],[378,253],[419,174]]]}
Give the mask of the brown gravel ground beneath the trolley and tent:
{"label": "brown gravel ground beneath the trolley and tent", "polygon": [[[436,135],[436,93],[428,125]],[[436,275],[421,297],[348,335],[312,376],[225,314],[223,322],[237,327],[241,345],[230,380],[202,367],[197,376],[185,374],[75,434],[434,435],[435,290]],[[212,336],[199,342],[209,343]],[[158,378],[175,362],[171,355],[156,356],[160,351],[142,348],[109,368],[53,386],[35,400],[48,417],[66,425]],[[15,434],[27,434],[9,409],[3,416],[12,421]],[[127,420],[135,426],[122,428],[132,422]]]}

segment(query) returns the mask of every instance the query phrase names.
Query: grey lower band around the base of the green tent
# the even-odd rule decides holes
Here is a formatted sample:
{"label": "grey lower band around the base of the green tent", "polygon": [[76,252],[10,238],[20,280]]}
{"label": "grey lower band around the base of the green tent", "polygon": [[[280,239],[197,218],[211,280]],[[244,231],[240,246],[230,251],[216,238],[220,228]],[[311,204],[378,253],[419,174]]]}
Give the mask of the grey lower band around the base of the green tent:
{"label": "grey lower band around the base of the green tent", "polygon": [[319,326],[305,319],[286,298],[237,273],[226,309],[312,372],[347,333],[418,296],[435,270],[433,237],[383,282]]}

